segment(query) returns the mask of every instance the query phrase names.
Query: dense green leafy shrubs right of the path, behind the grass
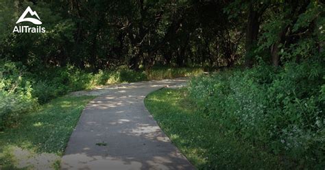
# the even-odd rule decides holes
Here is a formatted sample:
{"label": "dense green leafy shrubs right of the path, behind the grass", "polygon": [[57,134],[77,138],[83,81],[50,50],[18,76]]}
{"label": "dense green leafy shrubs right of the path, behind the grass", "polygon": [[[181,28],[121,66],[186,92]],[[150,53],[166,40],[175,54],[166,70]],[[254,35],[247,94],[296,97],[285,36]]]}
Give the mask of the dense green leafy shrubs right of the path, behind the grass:
{"label": "dense green leafy shrubs right of the path, behind the grass", "polygon": [[324,60],[196,77],[189,96],[228,136],[296,167],[325,166]]}

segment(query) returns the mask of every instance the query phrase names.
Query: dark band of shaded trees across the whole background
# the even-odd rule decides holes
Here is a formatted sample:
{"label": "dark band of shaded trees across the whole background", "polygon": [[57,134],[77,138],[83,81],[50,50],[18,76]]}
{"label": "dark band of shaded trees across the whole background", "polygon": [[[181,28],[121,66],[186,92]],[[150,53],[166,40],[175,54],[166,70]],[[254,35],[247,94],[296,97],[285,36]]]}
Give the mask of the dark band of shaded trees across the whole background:
{"label": "dark band of shaded trees across the whole background", "polygon": [[[27,6],[46,34],[14,34]],[[1,58],[27,66],[278,66],[324,48],[320,1],[1,1]]]}

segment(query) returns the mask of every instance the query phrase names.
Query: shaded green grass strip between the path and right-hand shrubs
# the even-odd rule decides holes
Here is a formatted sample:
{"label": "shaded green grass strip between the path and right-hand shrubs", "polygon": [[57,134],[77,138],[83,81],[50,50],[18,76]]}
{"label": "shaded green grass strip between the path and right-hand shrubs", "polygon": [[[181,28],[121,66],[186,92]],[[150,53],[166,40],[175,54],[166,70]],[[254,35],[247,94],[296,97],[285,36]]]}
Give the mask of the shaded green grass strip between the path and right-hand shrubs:
{"label": "shaded green grass strip between the path and right-hand shrubs", "polygon": [[[171,141],[197,169],[279,169],[277,157],[237,136],[226,137],[223,127],[195,113],[184,89],[149,94],[145,106]],[[202,114],[201,114],[202,115]]]}

